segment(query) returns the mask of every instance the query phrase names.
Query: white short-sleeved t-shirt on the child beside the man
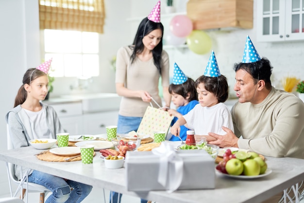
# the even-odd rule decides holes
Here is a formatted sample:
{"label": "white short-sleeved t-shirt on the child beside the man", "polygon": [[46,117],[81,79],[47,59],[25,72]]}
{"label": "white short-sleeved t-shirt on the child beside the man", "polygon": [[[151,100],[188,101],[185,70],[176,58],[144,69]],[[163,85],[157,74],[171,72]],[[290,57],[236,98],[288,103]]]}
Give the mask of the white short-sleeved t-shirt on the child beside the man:
{"label": "white short-sleeved t-shirt on the child beside the man", "polygon": [[196,135],[208,135],[208,132],[224,135],[226,132],[221,128],[222,126],[234,131],[231,112],[223,103],[212,107],[202,107],[201,104],[197,104],[183,117]]}

